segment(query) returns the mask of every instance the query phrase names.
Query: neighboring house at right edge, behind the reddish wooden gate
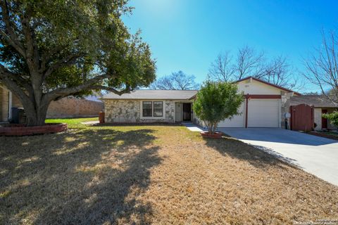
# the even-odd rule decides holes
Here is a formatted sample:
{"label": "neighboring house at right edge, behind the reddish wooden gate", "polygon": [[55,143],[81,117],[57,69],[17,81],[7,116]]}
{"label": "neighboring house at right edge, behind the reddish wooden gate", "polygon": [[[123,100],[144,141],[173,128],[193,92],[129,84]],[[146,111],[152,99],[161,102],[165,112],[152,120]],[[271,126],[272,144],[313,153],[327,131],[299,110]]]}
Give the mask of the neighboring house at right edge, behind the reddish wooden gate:
{"label": "neighboring house at right edge, behind the reddish wooden gate", "polygon": [[322,117],[325,113],[333,113],[338,110],[338,104],[325,98],[325,96],[308,95],[308,96],[292,96],[285,104],[287,107],[291,105],[306,104],[314,107],[314,122],[316,124],[315,130],[322,129],[337,129],[330,120]]}

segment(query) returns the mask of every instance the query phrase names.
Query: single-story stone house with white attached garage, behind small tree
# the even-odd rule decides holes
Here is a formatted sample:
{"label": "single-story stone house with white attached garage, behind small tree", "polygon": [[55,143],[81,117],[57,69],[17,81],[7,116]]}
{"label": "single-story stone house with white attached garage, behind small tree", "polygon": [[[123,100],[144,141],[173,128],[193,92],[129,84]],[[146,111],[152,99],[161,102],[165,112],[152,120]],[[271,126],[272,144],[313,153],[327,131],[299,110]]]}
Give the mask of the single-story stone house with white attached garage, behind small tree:
{"label": "single-story stone house with white attached garage, behind small tree", "polygon": [[[254,77],[246,77],[236,83],[239,91],[245,94],[245,101],[239,108],[241,115],[220,122],[218,127],[284,127],[284,113],[288,112],[284,104],[292,96],[301,96],[295,91]],[[101,98],[105,104],[105,121],[191,121],[202,124],[192,110],[197,92],[136,90],[121,96],[109,93]]]}

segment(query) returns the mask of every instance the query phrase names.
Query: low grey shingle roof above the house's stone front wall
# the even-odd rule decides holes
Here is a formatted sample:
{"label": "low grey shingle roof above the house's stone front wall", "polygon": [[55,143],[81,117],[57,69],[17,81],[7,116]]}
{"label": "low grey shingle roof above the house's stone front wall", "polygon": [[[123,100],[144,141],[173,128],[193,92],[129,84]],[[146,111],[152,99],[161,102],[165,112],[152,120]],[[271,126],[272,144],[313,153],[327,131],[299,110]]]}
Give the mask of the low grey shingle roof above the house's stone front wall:
{"label": "low grey shingle roof above the house's stone front wall", "polygon": [[189,100],[197,94],[197,90],[135,90],[128,94],[113,94],[110,92],[101,99],[163,99]]}

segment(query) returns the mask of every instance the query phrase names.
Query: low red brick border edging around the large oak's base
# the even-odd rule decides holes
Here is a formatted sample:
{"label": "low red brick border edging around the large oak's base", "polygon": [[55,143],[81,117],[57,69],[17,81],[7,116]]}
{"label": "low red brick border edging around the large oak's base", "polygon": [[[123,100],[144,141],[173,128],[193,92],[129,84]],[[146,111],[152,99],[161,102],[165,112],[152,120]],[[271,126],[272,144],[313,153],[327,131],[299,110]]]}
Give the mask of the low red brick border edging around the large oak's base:
{"label": "low red brick border edging around the large oak's base", "polygon": [[36,127],[0,127],[0,136],[26,136],[34,134],[51,134],[65,131],[67,124],[46,124]]}

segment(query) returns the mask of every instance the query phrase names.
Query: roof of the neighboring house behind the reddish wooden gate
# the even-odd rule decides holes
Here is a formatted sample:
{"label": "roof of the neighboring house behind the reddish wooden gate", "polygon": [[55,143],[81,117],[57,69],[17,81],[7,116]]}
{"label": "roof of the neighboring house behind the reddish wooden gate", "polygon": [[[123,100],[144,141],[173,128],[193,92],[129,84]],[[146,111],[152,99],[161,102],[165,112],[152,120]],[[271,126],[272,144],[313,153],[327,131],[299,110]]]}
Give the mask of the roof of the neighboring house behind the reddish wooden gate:
{"label": "roof of the neighboring house behind the reddish wooden gate", "polygon": [[307,104],[317,108],[338,108],[338,104],[330,101],[325,96],[309,95],[309,96],[292,96],[290,105]]}

